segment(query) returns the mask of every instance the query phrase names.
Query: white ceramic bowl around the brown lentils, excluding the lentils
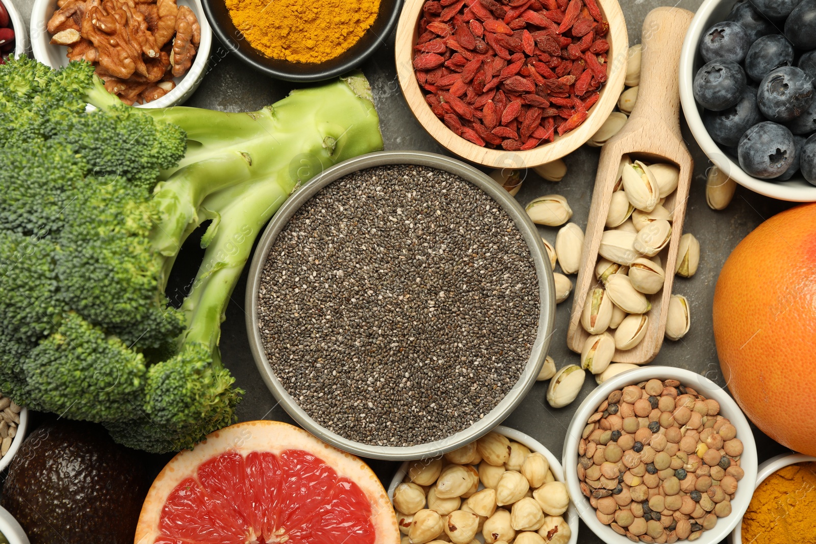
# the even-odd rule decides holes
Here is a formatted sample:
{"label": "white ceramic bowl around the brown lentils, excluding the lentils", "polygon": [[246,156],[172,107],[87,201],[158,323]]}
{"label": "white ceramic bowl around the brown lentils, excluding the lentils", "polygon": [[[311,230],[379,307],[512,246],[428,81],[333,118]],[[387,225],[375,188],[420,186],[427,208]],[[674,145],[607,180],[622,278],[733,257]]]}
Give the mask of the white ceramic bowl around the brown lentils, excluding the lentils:
{"label": "white ceramic bowl around the brown lentils, excluding the lentils", "polygon": [[756,488],[756,442],[748,425],[748,420],[743,412],[734,402],[734,399],[716,383],[700,374],[695,374],[690,370],[678,369],[672,366],[645,366],[639,369],[627,370],[596,387],[587,398],[583,400],[578,410],[575,412],[570,427],[567,429],[564,440],[564,455],[562,463],[566,475],[567,489],[570,490],[570,497],[573,498],[578,513],[589,529],[606,544],[628,544],[629,539],[615,533],[609,526],[601,524],[595,515],[595,509],[589,504],[588,498],[581,493],[578,472],[578,444],[581,440],[583,428],[587,426],[587,420],[592,415],[601,402],[616,389],[622,389],[628,385],[637,384],[657,378],[659,380],[676,379],[681,385],[692,387],[700,395],[707,399],[714,399],[720,403],[720,414],[730,419],[730,422],[737,428],[737,438],[743,441],[743,454],[740,457],[739,466],[745,471],[745,476],[739,482],[737,493],[731,501],[731,514],[717,521],[714,529],[703,531],[702,537],[696,542],[698,544],[716,544],[721,542],[736,525],[742,520],[743,514],[747,510],[748,503]]}

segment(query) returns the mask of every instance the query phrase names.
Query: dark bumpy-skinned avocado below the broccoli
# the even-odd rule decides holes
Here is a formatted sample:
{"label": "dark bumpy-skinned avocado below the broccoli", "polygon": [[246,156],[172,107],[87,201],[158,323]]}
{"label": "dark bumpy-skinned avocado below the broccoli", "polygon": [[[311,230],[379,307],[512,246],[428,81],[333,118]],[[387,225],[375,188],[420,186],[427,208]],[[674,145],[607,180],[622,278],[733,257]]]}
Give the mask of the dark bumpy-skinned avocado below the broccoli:
{"label": "dark bumpy-skinned avocado below the broccoli", "polygon": [[147,489],[133,450],[103,427],[60,420],[25,439],[0,504],[31,544],[132,544]]}

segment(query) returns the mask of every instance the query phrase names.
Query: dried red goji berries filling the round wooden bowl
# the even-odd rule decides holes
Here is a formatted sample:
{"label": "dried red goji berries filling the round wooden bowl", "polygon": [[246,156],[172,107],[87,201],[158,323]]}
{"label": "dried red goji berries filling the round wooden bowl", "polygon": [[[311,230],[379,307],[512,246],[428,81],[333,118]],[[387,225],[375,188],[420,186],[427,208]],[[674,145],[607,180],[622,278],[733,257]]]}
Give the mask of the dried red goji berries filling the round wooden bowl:
{"label": "dried red goji berries filling the round wooden bowl", "polygon": [[606,81],[596,0],[427,0],[414,69],[432,112],[473,144],[532,149],[580,126]]}

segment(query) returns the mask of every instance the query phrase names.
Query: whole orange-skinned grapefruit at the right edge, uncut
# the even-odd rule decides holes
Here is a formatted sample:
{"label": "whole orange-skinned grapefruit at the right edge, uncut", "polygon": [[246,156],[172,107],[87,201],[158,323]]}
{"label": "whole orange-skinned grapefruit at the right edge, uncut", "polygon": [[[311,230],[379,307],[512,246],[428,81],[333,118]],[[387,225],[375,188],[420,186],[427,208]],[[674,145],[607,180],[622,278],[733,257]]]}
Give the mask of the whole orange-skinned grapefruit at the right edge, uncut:
{"label": "whole orange-skinned grapefruit at the right edge, uncut", "polygon": [[714,292],[714,338],[747,417],[816,455],[816,203],[774,215],[730,254]]}

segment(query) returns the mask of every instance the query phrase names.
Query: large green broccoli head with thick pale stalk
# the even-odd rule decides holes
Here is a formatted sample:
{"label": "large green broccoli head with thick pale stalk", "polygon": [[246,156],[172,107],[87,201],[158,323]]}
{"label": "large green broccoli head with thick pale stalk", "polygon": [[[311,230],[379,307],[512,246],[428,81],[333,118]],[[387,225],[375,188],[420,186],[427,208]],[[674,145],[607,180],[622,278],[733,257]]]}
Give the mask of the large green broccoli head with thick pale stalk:
{"label": "large green broccoli head with thick pale stalk", "polygon": [[235,419],[220,324],[256,237],[300,183],[382,148],[379,119],[361,74],[221,113],[132,108],[93,72],[0,66],[0,390],[134,448],[191,448]]}

